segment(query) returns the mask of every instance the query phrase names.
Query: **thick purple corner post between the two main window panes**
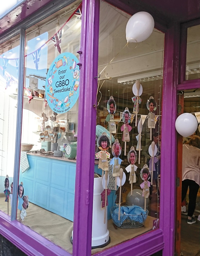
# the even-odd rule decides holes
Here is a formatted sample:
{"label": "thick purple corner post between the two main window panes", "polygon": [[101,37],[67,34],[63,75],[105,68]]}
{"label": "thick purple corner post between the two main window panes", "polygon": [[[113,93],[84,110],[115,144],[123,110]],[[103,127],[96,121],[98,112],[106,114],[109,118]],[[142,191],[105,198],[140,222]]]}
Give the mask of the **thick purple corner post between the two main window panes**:
{"label": "thick purple corner post between the two main window panes", "polygon": [[82,12],[73,255],[88,256],[92,239],[99,1],[83,1]]}

